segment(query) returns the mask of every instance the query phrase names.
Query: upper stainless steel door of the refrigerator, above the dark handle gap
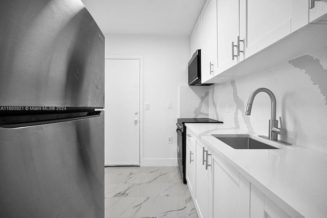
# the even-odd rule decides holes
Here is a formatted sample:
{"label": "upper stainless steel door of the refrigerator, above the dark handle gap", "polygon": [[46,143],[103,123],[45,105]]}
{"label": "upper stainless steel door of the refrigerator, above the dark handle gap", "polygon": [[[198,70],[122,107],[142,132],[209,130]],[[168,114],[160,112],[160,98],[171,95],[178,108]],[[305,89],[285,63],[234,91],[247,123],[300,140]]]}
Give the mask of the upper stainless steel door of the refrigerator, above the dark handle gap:
{"label": "upper stainless steel door of the refrigerator, above the dark handle gap", "polygon": [[0,105],[104,107],[104,35],[80,0],[0,1]]}

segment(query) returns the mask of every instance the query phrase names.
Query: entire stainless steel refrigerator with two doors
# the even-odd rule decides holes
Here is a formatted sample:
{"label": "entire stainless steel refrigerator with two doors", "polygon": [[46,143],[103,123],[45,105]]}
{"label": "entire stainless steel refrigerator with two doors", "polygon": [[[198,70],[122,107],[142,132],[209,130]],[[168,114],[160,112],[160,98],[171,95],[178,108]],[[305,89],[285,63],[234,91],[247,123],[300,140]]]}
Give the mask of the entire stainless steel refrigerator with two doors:
{"label": "entire stainless steel refrigerator with two doors", "polygon": [[82,2],[0,1],[0,217],[104,217],[103,107]]}

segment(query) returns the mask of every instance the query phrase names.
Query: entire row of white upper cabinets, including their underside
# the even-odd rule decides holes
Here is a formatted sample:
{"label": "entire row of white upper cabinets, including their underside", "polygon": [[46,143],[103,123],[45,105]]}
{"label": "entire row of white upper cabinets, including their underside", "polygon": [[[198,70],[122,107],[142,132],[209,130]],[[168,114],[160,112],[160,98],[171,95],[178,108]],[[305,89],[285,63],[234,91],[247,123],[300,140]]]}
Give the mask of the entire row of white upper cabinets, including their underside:
{"label": "entire row of white upper cabinets, including their underside", "polygon": [[202,83],[225,83],[323,48],[326,35],[327,0],[207,0],[191,48],[202,38]]}

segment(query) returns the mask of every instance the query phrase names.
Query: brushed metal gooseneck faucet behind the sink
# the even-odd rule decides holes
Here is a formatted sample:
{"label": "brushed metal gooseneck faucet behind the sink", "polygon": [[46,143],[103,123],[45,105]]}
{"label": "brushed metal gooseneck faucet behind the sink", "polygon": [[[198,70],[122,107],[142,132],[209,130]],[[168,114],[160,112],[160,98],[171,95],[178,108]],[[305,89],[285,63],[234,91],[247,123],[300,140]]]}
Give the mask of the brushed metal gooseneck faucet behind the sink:
{"label": "brushed metal gooseneck faucet behind the sink", "polygon": [[[286,130],[283,129],[281,117],[279,117],[279,121],[281,121],[281,128],[278,128],[278,121],[276,120],[276,98],[275,98],[275,95],[272,93],[272,91],[270,91],[269,89],[266,89],[266,88],[259,88],[259,89],[254,90],[249,97],[249,101],[247,103],[245,114],[251,115],[254,97],[256,96],[256,94],[258,94],[260,92],[267,93],[271,100],[271,118],[269,120],[268,139],[273,140],[273,141],[278,141],[279,143],[282,143],[284,145],[290,145],[287,142],[277,140],[277,135],[285,134]],[[267,137],[264,137],[263,135],[259,135],[259,136],[262,138],[267,138]]]}

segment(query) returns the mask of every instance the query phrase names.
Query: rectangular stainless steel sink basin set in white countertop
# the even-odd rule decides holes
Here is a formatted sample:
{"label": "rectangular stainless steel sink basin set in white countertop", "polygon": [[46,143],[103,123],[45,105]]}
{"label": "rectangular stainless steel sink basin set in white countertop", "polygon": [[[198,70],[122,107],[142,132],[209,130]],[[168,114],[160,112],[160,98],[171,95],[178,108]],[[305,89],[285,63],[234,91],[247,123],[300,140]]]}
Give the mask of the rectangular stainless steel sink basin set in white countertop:
{"label": "rectangular stainless steel sink basin set in white countertop", "polygon": [[234,149],[279,149],[265,143],[256,141],[248,134],[212,134],[223,143]]}

